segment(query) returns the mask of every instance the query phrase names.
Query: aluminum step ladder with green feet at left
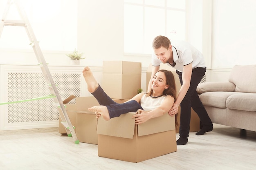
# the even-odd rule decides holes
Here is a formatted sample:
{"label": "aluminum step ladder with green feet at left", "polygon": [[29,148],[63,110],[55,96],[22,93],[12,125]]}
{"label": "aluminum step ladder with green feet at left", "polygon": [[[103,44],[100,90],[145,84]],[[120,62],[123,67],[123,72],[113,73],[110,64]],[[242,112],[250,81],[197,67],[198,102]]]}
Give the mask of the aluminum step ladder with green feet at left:
{"label": "aluminum step ladder with green feet at left", "polygon": [[[9,12],[9,8],[12,4],[16,5],[16,9],[18,10],[21,20],[6,20],[7,14]],[[74,131],[74,126],[72,126],[72,123],[67,115],[65,106],[61,100],[61,97],[58,93],[56,85],[52,79],[52,75],[49,71],[47,63],[45,62],[45,58],[40,49],[38,41],[36,40],[36,36],[34,35],[34,31],[32,30],[29,20],[27,18],[27,15],[26,15],[24,9],[20,6],[18,0],[8,0],[7,1],[7,6],[5,7],[4,14],[2,16],[2,20],[0,21],[0,38],[2,35],[2,31],[4,29],[4,26],[24,26],[24,28],[27,32],[27,35],[29,37],[29,40],[31,42],[30,45],[32,46],[34,53],[36,54],[36,58],[38,60],[39,66],[43,72],[43,76],[45,77],[46,84],[49,87],[51,94],[55,96],[55,97],[53,97],[54,103],[58,108],[60,108],[60,110],[63,113],[63,114],[60,113],[61,120],[62,120],[61,123],[65,126],[67,135],[69,137],[71,137],[71,136],[73,137],[75,144],[79,144],[79,140],[77,139],[76,133]]]}

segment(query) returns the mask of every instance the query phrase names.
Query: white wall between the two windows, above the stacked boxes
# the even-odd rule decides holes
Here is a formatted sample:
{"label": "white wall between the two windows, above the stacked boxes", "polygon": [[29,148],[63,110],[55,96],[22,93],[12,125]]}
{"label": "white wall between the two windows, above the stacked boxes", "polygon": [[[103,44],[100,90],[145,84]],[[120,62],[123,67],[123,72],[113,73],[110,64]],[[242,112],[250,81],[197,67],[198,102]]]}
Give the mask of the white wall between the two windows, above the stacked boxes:
{"label": "white wall between the two windows, above the stacked boxes", "polygon": [[78,49],[86,57],[83,64],[102,66],[102,60],[150,64],[150,56],[124,55],[123,0],[80,0],[78,10]]}

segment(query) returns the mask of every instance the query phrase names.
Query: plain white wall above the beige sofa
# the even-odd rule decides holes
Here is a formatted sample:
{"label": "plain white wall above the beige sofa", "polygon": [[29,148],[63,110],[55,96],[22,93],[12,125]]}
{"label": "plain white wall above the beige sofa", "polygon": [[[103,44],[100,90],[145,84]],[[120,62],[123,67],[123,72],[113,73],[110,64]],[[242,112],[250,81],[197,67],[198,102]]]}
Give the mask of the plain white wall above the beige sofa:
{"label": "plain white wall above the beige sofa", "polygon": [[256,1],[213,0],[212,68],[256,64]]}

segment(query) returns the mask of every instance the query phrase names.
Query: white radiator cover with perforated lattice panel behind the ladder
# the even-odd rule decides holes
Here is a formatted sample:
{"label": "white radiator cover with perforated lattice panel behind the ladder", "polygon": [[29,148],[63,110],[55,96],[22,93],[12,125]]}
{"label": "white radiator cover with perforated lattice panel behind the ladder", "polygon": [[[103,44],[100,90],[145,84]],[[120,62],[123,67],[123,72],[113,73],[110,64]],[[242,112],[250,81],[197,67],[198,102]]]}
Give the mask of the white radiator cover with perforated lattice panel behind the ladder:
{"label": "white radiator cover with perforated lattice panel behind the ladder", "polygon": [[[61,99],[85,95],[80,66],[49,66]],[[1,103],[50,95],[39,66],[1,65]],[[75,103],[73,99],[71,103]],[[0,130],[58,127],[52,98],[1,105]]]}

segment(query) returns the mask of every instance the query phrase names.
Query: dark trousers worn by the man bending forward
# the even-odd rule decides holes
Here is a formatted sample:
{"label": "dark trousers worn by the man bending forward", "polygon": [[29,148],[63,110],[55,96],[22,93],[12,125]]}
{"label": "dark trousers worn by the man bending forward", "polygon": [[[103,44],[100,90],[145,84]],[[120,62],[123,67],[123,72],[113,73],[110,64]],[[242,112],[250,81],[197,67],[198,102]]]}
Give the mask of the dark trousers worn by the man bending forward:
{"label": "dark trousers worn by the man bending forward", "polygon": [[[190,128],[190,118],[191,118],[191,107],[198,114],[203,127],[212,128],[213,124],[207,111],[205,110],[202,102],[199,99],[196,88],[200,83],[202,77],[206,72],[206,68],[197,67],[192,70],[191,80],[189,90],[187,91],[184,99],[180,103],[180,136],[188,137]],[[179,75],[180,84],[182,85],[182,72],[177,71]]]}

